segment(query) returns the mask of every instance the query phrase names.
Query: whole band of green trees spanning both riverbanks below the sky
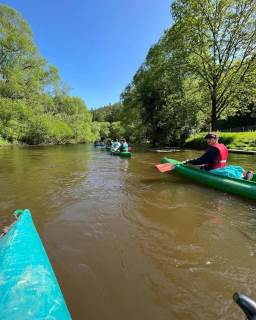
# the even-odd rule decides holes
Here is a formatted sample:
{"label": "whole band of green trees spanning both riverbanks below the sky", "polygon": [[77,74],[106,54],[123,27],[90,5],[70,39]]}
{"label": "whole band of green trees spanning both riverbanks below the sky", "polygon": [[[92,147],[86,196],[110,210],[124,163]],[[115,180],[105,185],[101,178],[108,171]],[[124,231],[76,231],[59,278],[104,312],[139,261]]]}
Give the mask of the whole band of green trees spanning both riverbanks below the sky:
{"label": "whole band of green trees spanning both riverbanks below the sky", "polygon": [[225,119],[255,115],[256,2],[174,0],[171,14],[172,26],[149,49],[120,102],[89,111],[40,56],[22,16],[0,5],[0,141],[123,136],[177,145]]}

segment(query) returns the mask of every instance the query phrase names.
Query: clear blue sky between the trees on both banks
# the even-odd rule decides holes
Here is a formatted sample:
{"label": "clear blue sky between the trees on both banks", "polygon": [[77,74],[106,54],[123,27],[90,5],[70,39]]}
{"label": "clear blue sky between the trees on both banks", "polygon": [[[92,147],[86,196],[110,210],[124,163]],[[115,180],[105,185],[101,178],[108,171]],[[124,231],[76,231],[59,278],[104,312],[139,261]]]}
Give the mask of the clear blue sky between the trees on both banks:
{"label": "clear blue sky between the trees on both banks", "polygon": [[171,25],[171,0],[6,0],[30,24],[70,95],[98,108],[119,100],[148,49]]}

